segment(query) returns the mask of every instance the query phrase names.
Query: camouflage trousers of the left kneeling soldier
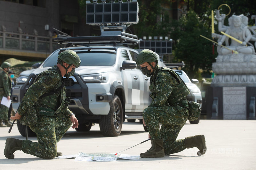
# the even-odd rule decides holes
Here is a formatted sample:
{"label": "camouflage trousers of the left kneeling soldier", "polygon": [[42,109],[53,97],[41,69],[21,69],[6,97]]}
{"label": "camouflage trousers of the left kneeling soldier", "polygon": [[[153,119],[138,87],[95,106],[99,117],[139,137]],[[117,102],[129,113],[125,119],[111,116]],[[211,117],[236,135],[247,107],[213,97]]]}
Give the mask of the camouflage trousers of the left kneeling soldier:
{"label": "camouflage trousers of the left kneeling soldier", "polygon": [[38,116],[36,125],[29,126],[36,133],[37,142],[23,140],[22,151],[43,159],[53,159],[57,155],[57,142],[71,127],[70,119],[63,115]]}

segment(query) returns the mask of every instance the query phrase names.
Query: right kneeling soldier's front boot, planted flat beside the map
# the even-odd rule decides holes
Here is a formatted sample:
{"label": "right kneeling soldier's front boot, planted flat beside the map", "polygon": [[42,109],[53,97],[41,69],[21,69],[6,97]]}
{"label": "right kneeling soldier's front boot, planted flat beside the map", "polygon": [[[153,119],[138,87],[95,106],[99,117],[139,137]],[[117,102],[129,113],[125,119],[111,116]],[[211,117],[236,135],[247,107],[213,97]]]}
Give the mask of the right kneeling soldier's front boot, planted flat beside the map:
{"label": "right kneeling soldier's front boot, planted flat beside the map", "polygon": [[145,153],[140,153],[141,158],[160,158],[164,157],[163,139],[151,139],[152,147]]}

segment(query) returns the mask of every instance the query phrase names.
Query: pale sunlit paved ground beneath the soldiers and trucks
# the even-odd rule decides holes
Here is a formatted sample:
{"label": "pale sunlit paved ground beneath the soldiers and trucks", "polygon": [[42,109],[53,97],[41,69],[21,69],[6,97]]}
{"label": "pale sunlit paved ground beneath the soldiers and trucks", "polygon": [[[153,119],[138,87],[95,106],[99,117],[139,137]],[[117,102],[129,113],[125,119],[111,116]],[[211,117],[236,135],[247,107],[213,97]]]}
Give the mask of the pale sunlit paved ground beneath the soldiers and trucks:
{"label": "pale sunlit paved ground beneath the soldiers and trucks", "polygon": [[[137,120],[138,121],[138,120]],[[165,156],[164,158],[140,160],[117,160],[116,162],[87,162],[74,159],[44,160],[21,151],[15,152],[15,159],[6,159],[3,151],[7,137],[21,137],[17,126],[0,128],[1,169],[45,170],[45,169],[256,169],[256,121],[250,120],[200,120],[199,124],[186,123],[178,138],[204,134],[207,152],[198,157],[195,148]],[[58,143],[58,151],[65,155],[84,153],[116,153],[148,138],[139,122],[125,122],[118,137],[103,137],[99,125],[90,132],[76,132],[70,129]],[[36,137],[29,137],[36,142]],[[139,155],[150,148],[150,141],[135,146],[125,154]]]}

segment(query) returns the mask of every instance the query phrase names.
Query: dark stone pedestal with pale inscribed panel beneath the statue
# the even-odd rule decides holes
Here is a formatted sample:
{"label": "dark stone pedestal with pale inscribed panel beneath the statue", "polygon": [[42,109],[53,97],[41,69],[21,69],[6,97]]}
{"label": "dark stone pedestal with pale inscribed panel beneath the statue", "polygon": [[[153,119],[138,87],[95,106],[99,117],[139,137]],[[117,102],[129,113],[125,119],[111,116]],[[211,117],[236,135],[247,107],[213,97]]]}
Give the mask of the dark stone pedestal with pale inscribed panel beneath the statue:
{"label": "dark stone pedestal with pale inscribed panel beneath the statue", "polygon": [[211,119],[255,120],[256,86],[212,87]]}

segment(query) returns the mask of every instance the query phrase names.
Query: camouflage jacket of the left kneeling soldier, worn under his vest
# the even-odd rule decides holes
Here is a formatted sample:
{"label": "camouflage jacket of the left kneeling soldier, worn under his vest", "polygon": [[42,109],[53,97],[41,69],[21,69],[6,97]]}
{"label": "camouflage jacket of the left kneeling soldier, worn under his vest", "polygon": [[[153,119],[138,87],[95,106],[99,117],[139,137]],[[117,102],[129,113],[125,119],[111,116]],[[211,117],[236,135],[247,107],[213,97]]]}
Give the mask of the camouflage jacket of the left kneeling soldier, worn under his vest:
{"label": "camouflage jacket of the left kneeling soldier, worn under his vest", "polygon": [[[27,114],[28,110],[33,107],[33,105],[44,107],[44,105],[39,102],[40,96],[58,89],[62,85],[62,83],[64,83],[63,78],[61,76],[59,68],[56,65],[40,73],[38,75],[38,78],[36,78],[36,82],[31,85],[26,92],[17,112],[20,115],[25,115]],[[62,106],[62,101],[66,98],[66,87],[64,86],[61,90],[55,92],[54,94],[58,95]],[[61,113],[68,116],[72,112],[68,109],[68,107],[66,107],[64,108],[64,110],[62,110]]]}

